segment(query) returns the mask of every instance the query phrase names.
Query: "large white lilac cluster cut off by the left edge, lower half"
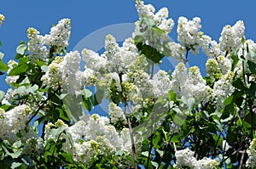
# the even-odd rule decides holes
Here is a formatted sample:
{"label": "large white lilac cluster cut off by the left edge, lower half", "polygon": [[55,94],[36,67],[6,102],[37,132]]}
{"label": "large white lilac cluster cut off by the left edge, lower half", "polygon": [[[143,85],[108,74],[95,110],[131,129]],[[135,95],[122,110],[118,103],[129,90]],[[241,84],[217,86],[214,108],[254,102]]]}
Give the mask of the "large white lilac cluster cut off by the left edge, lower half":
{"label": "large white lilac cluster cut off by the left edge, lower half", "polygon": [[5,111],[0,108],[0,138],[14,144],[18,140],[17,133],[26,128],[26,121],[31,113],[26,104]]}

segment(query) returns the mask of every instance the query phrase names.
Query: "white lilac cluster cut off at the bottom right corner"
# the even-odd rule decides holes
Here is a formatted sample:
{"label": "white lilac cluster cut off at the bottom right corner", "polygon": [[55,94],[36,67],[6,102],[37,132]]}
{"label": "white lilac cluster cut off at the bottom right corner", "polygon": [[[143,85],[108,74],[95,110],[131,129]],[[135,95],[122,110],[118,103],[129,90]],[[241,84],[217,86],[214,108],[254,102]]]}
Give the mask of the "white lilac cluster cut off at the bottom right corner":
{"label": "white lilac cluster cut off at the bottom right corner", "polygon": [[253,138],[249,149],[247,149],[247,154],[249,158],[247,159],[246,166],[248,168],[254,168],[256,166],[256,138]]}

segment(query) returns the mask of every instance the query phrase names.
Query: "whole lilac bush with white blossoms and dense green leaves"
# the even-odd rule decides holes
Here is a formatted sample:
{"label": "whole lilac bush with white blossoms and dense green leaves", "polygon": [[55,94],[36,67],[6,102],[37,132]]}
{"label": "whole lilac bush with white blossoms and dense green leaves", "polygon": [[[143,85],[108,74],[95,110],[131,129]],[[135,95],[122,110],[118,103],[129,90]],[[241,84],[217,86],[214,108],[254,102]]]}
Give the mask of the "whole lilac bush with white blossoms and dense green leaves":
{"label": "whole lilac bush with white blossoms and dense green leaves", "polygon": [[[180,17],[172,42],[167,8],[136,8],[132,37],[119,46],[108,35],[102,54],[67,52],[69,19],[46,35],[29,28],[7,65],[0,53],[1,168],[256,167],[256,43],[243,22],[216,42],[200,18]],[[188,67],[200,52],[207,76]],[[165,57],[175,69],[155,71]],[[108,116],[84,113],[102,102]]]}

